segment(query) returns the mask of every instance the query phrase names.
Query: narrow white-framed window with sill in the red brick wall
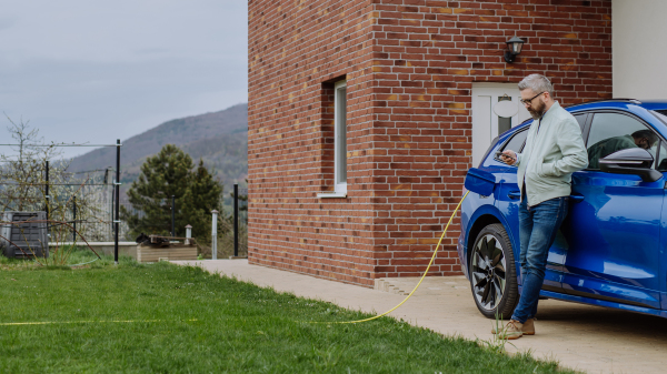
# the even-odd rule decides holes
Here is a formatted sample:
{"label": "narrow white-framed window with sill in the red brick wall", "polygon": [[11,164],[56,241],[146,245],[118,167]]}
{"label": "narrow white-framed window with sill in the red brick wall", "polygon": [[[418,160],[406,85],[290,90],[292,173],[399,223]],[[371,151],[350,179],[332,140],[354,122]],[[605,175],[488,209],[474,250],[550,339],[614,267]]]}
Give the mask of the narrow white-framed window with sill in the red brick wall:
{"label": "narrow white-framed window with sill in the red brick wall", "polygon": [[334,84],[334,193],[319,198],[347,196],[347,81]]}

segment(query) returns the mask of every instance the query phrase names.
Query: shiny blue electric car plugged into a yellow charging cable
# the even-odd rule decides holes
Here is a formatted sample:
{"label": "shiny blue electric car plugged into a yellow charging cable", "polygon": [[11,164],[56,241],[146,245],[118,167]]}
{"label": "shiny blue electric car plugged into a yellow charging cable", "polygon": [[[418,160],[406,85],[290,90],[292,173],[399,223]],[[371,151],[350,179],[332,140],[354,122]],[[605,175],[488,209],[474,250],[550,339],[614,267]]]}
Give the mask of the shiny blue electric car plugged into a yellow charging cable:
{"label": "shiny blue electric car plugged into a yellow charging cable", "polygon": [[[567,110],[581,127],[590,165],[573,174],[570,210],[540,295],[667,317],[667,101],[614,99]],[[530,123],[495,139],[466,178],[458,254],[487,317],[509,317],[521,292],[517,168],[495,152],[520,152]],[[654,134],[653,146],[629,143],[640,130]],[[593,151],[607,141],[630,145]]]}

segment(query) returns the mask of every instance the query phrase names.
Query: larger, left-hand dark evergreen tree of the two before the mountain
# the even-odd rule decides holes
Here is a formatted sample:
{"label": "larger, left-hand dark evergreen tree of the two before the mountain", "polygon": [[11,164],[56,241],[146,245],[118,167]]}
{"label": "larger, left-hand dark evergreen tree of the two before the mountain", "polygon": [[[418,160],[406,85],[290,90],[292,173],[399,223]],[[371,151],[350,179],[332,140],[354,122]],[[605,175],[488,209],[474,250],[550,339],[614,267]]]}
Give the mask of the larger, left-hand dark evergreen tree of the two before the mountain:
{"label": "larger, left-hand dark evergreen tree of the two before the mountain", "polygon": [[[176,233],[185,234],[183,199],[192,181],[192,158],[173,144],[166,144],[141,165],[141,174],[128,191],[130,203],[142,215],[122,209],[131,234],[170,235],[171,196],[176,196]],[[183,235],[185,236],[185,235]]]}

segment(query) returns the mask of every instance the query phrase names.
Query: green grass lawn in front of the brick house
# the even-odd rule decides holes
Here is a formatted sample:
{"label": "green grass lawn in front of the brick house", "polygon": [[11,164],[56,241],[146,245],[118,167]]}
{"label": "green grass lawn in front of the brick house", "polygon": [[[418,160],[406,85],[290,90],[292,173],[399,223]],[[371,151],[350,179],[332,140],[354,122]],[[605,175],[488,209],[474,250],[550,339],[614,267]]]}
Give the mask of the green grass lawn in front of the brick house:
{"label": "green grass lawn in front of the brick house", "polygon": [[[70,262],[91,259],[77,252]],[[389,317],[310,323],[368,315],[198,267],[129,259],[115,266],[109,257],[74,270],[7,259],[0,266],[0,323],[60,322],[0,325],[2,373],[558,371]]]}

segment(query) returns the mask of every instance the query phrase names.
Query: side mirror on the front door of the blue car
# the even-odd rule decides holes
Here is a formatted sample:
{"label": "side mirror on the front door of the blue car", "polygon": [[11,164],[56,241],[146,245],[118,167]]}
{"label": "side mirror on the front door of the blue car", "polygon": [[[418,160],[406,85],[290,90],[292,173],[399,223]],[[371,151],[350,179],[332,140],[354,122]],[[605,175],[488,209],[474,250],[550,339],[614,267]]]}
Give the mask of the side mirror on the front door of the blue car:
{"label": "side mirror on the front door of the blue car", "polygon": [[655,182],[663,173],[650,169],[654,158],[640,148],[629,148],[614,152],[600,160],[600,170],[615,174],[639,175],[644,182]]}

